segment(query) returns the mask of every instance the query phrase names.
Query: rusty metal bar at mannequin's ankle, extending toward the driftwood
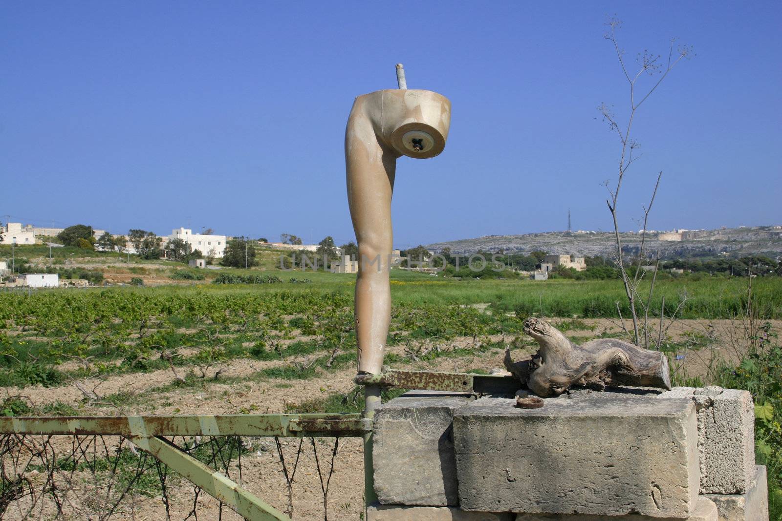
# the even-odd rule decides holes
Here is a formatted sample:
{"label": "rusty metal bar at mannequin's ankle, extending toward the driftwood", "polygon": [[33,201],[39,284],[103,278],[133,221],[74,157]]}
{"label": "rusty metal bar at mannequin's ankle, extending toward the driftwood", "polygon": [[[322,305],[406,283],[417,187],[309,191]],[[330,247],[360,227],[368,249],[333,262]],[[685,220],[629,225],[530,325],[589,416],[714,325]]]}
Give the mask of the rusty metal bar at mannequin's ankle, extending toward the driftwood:
{"label": "rusty metal bar at mannequin's ankle, extending toward the driftwood", "polygon": [[356,376],[356,384],[475,394],[514,394],[524,387],[513,376],[438,373],[436,371],[402,371],[386,366],[383,367],[381,374],[360,374]]}

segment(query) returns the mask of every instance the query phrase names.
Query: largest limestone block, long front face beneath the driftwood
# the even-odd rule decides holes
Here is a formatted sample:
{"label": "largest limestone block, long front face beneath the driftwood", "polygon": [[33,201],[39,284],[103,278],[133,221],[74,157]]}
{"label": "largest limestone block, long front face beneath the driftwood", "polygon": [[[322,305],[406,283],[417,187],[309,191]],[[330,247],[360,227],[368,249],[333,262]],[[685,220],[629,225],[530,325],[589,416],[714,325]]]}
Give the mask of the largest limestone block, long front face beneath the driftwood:
{"label": "largest limestone block, long front face beneath the driftwood", "polygon": [[482,512],[687,519],[698,501],[691,400],[481,398],[454,414],[459,499]]}

